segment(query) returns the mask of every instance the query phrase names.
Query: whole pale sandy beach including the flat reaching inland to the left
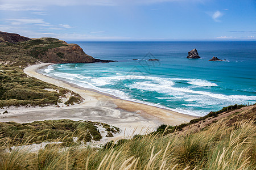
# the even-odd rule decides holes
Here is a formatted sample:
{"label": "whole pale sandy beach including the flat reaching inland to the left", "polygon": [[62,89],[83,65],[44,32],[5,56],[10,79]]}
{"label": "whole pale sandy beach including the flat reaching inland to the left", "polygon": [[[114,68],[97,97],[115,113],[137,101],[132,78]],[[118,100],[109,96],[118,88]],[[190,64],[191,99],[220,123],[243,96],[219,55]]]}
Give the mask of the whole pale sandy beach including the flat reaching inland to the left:
{"label": "whole pale sandy beach including the flat reaching inland to the left", "polygon": [[161,124],[178,125],[195,118],[195,116],[177,113],[168,109],[117,99],[36,72],[39,68],[50,64],[52,63],[28,66],[24,69],[24,73],[44,82],[72,90],[80,94],[84,98],[84,102],[68,107],[4,108],[0,109],[0,111],[7,110],[9,113],[0,115],[1,122],[14,121],[24,123],[63,118],[75,121],[89,120],[117,126],[122,129],[122,134],[119,137],[127,137],[133,134],[144,134],[148,130],[156,129]]}

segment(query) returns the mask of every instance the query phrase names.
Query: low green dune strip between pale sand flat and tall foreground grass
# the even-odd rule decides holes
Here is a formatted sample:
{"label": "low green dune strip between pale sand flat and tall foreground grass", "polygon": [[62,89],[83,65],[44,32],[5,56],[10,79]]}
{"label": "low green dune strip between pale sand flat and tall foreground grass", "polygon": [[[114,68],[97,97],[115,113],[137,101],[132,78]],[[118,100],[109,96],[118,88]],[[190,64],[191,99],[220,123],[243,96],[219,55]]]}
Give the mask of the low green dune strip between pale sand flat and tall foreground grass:
{"label": "low green dune strip between pale sand flat and tall foreground grass", "polygon": [[16,122],[0,122],[0,135],[3,141],[10,141],[9,146],[19,145],[27,141],[27,144],[42,143],[61,139],[63,145],[75,144],[77,142],[92,142],[102,139],[97,126],[102,126],[106,133],[113,136],[120,130],[108,124],[91,121],[72,120],[48,120],[35,121],[26,124]]}

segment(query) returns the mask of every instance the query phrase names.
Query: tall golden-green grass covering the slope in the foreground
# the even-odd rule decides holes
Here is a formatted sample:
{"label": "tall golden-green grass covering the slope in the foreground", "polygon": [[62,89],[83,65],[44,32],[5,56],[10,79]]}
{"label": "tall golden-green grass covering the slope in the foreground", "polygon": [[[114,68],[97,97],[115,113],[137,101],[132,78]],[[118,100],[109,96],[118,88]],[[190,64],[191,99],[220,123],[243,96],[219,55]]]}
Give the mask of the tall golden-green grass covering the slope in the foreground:
{"label": "tall golden-green grass covering the slope in the foreground", "polygon": [[256,107],[198,133],[137,135],[103,148],[49,145],[38,153],[6,152],[5,143],[0,169],[255,169],[255,115]]}

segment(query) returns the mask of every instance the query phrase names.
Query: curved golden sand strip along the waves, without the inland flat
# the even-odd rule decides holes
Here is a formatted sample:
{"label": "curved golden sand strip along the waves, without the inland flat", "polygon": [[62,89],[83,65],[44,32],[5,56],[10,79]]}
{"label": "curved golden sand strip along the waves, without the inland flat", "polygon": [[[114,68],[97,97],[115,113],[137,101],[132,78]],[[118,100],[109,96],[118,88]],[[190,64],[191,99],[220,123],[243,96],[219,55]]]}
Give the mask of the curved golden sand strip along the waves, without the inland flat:
{"label": "curved golden sand strip along the waves, without the inland flat", "polygon": [[24,73],[26,73],[29,76],[34,76],[35,78],[43,80],[44,82],[52,83],[52,84],[55,84],[56,86],[68,88],[69,90],[77,92],[85,99],[84,103],[79,104],[79,105],[84,105],[84,104],[88,105],[88,104],[86,104],[88,102],[88,101],[86,101],[86,98],[88,96],[95,97],[98,101],[101,101],[101,100],[112,101],[115,105],[117,105],[117,108],[124,109],[129,112],[137,112],[137,113],[141,113],[141,114],[146,114],[147,117],[157,117],[163,123],[170,124],[170,125],[177,125],[177,124],[181,124],[184,122],[188,122],[192,118],[196,117],[196,116],[191,116],[188,114],[170,111],[169,109],[158,108],[155,106],[146,105],[146,104],[142,104],[142,103],[136,103],[134,101],[129,101],[129,100],[122,100],[117,97],[98,92],[96,90],[83,88],[83,87],[77,86],[72,83],[64,82],[63,80],[51,78],[49,76],[40,74],[36,71],[42,67],[45,67],[45,66],[51,65],[51,64],[52,63],[41,63],[39,65],[28,66],[24,69]]}

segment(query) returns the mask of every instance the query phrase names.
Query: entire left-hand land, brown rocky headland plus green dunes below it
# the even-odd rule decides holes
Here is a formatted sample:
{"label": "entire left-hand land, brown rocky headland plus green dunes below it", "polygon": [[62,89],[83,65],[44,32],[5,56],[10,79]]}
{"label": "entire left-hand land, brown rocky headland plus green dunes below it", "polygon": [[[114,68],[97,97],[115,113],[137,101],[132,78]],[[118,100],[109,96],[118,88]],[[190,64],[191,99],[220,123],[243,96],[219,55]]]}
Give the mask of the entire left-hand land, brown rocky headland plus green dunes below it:
{"label": "entire left-hand land, brown rocky headland plus green dunes below it", "polygon": [[[29,39],[14,33],[0,32],[0,108],[19,105],[52,105],[71,94],[64,103],[81,103],[82,97],[72,91],[29,78],[22,72],[28,65],[40,62],[92,63],[111,62],[88,56],[77,44],[54,38]],[[47,88],[51,91],[47,91]],[[55,91],[52,91],[55,90]]]}

